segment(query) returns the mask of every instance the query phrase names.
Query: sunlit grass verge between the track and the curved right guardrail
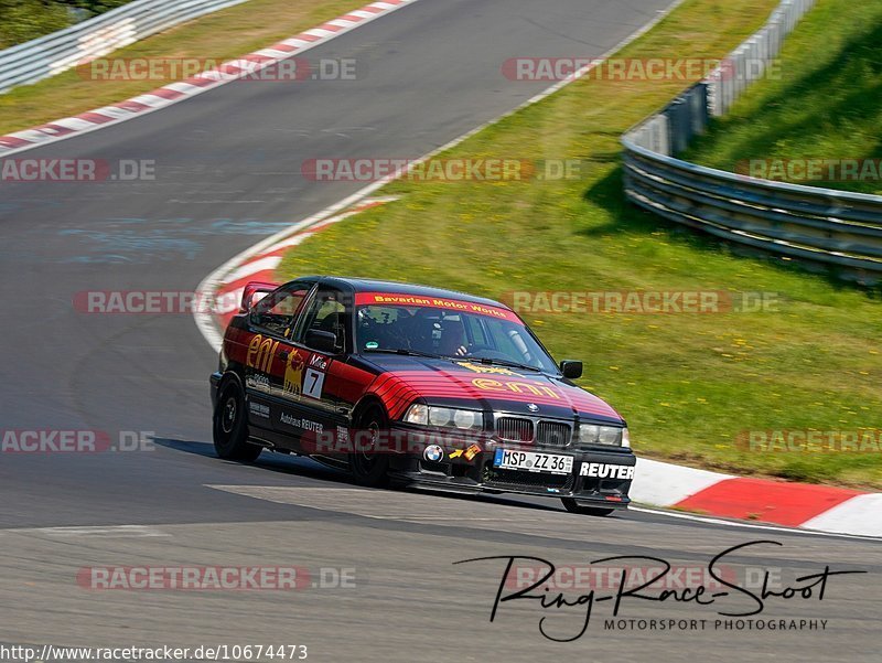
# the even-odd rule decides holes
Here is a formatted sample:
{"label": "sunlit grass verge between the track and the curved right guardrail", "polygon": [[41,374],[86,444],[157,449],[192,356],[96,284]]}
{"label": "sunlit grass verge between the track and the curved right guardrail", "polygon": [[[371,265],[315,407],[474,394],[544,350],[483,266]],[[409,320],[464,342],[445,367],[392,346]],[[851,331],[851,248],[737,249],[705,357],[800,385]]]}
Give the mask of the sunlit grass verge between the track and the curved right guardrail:
{"label": "sunlit grass verge between the track and the curved right guardrail", "polygon": [[[690,0],[623,57],[721,57],[776,0]],[[310,238],[281,276],[348,274],[501,298],[512,290],[773,291],[777,312],[530,314],[581,385],[628,420],[644,457],[795,480],[882,486],[879,455],[761,455],[749,429],[875,429],[882,411],[882,309],[840,288],[723,246],[626,205],[620,136],[682,82],[582,79],[477,133],[449,157],[580,159],[578,180],[399,181],[401,196]],[[453,103],[453,101],[452,101]]]}

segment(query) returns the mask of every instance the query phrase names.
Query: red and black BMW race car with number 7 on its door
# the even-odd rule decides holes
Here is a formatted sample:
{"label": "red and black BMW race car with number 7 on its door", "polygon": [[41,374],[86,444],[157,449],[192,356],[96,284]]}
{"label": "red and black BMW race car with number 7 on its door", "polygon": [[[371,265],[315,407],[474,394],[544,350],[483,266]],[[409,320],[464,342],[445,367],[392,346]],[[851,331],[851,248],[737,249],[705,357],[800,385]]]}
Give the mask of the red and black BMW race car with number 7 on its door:
{"label": "red and black BMW race car with number 7 on its door", "polygon": [[224,459],[262,449],[348,469],[363,485],[628,503],[625,421],[576,386],[508,307],[437,288],[305,277],[249,284],[211,377]]}

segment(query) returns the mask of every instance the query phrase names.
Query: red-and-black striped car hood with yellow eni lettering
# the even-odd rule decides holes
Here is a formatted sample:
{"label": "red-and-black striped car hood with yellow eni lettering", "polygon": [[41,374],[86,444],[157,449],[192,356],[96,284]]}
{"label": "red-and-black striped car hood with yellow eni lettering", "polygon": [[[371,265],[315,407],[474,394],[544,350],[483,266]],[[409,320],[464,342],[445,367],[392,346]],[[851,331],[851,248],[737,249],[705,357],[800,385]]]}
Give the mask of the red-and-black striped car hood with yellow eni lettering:
{"label": "red-and-black striped car hood with yellow eni lettering", "polygon": [[422,398],[429,405],[537,417],[579,416],[582,419],[622,421],[619,413],[603,399],[560,376],[469,360],[392,354],[376,354],[365,359],[381,371],[377,389],[387,398],[395,394],[396,405],[399,406]]}

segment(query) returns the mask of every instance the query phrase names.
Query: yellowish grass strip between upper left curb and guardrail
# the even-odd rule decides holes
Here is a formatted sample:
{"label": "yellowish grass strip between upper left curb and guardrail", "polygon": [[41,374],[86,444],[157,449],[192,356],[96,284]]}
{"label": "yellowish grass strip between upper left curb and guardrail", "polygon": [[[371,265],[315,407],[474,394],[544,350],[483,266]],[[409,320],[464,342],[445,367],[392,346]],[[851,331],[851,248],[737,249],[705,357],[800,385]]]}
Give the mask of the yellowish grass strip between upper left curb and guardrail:
{"label": "yellowish grass strip between upper left curb and guardrail", "polygon": [[[150,36],[112,57],[227,61],[358,9],[365,0],[250,0]],[[0,135],[121,101],[172,81],[88,81],[71,69],[0,95]]]}

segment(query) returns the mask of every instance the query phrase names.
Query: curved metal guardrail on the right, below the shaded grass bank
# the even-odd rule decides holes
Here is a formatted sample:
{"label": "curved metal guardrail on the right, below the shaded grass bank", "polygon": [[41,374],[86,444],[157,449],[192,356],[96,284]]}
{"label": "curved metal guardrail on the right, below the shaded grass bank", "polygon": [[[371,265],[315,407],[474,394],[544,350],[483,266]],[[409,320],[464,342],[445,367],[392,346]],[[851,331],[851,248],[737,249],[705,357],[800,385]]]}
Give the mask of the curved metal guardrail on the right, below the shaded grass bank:
{"label": "curved metal guardrail on the right, below the shaded grass bank", "polygon": [[669,221],[808,268],[882,281],[882,196],[750,178],[674,156],[762,77],[815,0],[784,0],[707,79],[622,139],[625,195]]}

